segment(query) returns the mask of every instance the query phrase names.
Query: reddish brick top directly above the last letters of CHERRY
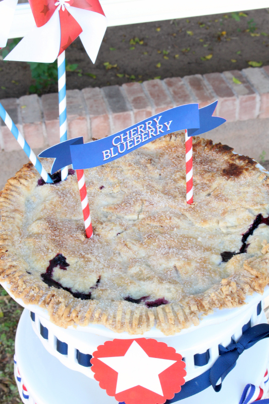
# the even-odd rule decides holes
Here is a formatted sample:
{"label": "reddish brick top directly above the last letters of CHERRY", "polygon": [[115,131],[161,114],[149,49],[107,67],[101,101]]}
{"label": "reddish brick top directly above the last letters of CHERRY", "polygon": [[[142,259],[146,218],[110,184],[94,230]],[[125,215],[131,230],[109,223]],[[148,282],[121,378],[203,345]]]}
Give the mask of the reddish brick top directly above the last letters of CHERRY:
{"label": "reddish brick top directly above the last letters of CHERRY", "polygon": [[170,98],[161,80],[144,81],[143,85],[151,99],[154,115],[174,107],[172,98]]}

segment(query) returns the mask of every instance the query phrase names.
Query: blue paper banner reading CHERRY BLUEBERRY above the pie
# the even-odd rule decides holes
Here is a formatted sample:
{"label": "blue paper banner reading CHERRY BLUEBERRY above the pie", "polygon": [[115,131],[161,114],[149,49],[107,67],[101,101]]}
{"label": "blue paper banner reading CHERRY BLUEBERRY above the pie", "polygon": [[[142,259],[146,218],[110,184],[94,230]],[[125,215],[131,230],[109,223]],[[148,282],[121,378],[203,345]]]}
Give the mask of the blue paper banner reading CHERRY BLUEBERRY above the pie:
{"label": "blue paper banner reading CHERRY BLUEBERRY above the pie", "polygon": [[54,157],[51,174],[69,164],[74,170],[101,166],[119,159],[131,151],[179,130],[188,130],[188,136],[196,136],[217,128],[226,119],[212,117],[218,101],[199,109],[198,104],[187,104],[153,115],[114,135],[89,143],[77,137],[49,147],[39,157]]}

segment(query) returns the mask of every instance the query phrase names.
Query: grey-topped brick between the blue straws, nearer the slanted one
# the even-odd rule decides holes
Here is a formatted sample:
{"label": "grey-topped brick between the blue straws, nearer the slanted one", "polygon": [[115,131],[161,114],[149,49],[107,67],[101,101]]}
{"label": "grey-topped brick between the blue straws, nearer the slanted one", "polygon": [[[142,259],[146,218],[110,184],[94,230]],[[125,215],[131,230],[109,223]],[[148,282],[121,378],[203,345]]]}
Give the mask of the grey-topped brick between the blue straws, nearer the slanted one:
{"label": "grey-topped brick between the blue straws, nearer the slanted one", "polygon": [[24,95],[19,98],[23,132],[31,148],[44,145],[43,125],[39,99],[36,94]]}

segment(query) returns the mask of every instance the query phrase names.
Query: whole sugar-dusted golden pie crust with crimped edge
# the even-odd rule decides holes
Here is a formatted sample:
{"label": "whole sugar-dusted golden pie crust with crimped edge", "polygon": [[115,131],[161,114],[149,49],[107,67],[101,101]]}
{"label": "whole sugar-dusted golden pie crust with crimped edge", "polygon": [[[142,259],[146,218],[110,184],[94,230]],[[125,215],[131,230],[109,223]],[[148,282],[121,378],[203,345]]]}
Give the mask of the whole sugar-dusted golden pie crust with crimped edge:
{"label": "whole sugar-dusted golden pie crust with crimped edge", "polygon": [[243,305],[269,283],[269,177],[232,150],[193,138],[193,205],[184,134],[85,170],[91,239],[76,174],[42,185],[26,164],[0,195],[0,280],[65,328],[173,335]]}

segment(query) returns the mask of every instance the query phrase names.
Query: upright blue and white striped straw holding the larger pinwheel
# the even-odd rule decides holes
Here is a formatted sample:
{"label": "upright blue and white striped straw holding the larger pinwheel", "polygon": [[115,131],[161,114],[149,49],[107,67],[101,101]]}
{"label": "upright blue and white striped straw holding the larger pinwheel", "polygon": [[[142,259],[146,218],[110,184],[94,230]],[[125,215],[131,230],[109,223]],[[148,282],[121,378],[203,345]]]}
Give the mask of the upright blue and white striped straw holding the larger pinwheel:
{"label": "upright blue and white striped straw holding the larger pinwheel", "polygon": [[[66,113],[66,52],[58,57],[58,89],[59,89],[59,115],[60,115],[60,142],[67,140],[67,113]],[[61,179],[68,176],[68,167],[61,170]]]}

